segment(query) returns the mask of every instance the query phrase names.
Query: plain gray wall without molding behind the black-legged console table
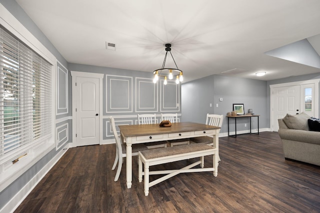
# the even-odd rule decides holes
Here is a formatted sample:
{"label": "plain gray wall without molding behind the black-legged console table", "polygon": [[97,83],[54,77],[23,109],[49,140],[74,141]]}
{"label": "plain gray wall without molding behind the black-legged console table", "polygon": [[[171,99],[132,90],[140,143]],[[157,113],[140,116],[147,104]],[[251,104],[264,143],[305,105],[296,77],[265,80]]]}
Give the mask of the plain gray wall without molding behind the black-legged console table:
{"label": "plain gray wall without molding behind the black-legged console table", "polygon": [[[223,114],[220,132],[227,132],[227,112],[233,103],[243,103],[244,112],[249,108],[259,114],[259,128],[269,126],[266,106],[266,81],[223,75],[210,75],[182,84],[182,121],[205,123],[206,113]],[[222,101],[219,101],[219,98]],[[212,106],[210,107],[210,103]],[[216,107],[218,104],[218,107]],[[234,120],[230,119],[230,131],[234,130]],[[244,123],[247,124],[244,127]],[[242,125],[243,124],[243,125]],[[249,118],[237,119],[237,131],[249,129]],[[257,128],[257,120],[252,118],[252,129]]]}

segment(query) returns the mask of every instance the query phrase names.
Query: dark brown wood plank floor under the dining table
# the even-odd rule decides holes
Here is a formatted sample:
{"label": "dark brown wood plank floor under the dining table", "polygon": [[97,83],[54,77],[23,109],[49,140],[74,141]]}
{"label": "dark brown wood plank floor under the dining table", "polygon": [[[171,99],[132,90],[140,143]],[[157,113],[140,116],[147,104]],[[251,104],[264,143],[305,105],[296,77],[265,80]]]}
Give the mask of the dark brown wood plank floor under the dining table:
{"label": "dark brown wood plank floor under the dining table", "polygon": [[136,163],[132,188],[126,188],[125,163],[113,181],[114,144],[70,148],[15,212],[320,212],[320,166],[285,160],[276,132],[220,137],[219,143],[217,177],[180,173],[150,187],[148,196]]}

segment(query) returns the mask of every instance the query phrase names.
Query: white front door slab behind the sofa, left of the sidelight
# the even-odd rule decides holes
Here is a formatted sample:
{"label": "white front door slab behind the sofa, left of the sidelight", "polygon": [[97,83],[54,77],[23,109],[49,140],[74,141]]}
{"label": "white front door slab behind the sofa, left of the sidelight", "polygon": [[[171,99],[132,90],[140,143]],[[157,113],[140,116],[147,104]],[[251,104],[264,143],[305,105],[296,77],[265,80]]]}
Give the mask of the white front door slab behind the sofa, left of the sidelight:
{"label": "white front door slab behind the sofa, left of the sidelight", "polygon": [[272,130],[279,129],[278,118],[300,113],[300,85],[275,87],[272,93]]}

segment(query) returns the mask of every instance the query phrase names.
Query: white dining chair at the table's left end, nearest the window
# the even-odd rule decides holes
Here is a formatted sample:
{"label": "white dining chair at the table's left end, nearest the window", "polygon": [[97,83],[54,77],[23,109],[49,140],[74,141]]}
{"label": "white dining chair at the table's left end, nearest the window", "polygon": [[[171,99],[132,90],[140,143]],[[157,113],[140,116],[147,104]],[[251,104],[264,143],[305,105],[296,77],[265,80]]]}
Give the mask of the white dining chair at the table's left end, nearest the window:
{"label": "white dining chair at the table's left end, nearest the window", "polygon": [[[110,119],[111,131],[113,132],[113,135],[114,135],[115,147],[116,147],[115,159],[112,165],[112,170],[114,170],[116,164],[118,164],[118,168],[116,170],[115,177],[114,177],[114,181],[117,181],[120,176],[123,158],[126,157],[126,149],[125,149],[125,144],[123,144],[122,140],[120,139],[116,131],[114,118],[110,116],[109,119]],[[132,156],[138,155],[138,151],[148,149],[146,145],[144,145],[143,143],[132,144],[131,146],[132,146]]]}

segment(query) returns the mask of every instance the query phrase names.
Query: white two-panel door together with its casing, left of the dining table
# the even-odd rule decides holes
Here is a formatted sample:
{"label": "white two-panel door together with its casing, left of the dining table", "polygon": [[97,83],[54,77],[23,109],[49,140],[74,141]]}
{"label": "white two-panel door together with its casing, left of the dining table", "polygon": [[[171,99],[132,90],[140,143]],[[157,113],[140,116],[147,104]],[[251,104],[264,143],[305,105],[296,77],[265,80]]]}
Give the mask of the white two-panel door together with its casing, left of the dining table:
{"label": "white two-panel door together with its casing, left of the dining table", "polygon": [[103,74],[71,71],[72,146],[102,141]]}

